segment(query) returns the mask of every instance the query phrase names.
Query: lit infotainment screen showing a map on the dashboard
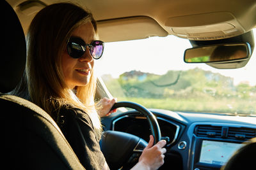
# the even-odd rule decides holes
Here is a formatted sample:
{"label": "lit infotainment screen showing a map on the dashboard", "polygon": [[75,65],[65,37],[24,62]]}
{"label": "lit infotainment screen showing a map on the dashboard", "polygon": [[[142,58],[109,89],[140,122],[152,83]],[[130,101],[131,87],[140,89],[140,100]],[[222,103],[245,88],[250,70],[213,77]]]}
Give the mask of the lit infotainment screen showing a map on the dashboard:
{"label": "lit infotainment screen showing a map on the dashboard", "polygon": [[199,162],[223,166],[232,154],[243,145],[239,143],[203,140]]}

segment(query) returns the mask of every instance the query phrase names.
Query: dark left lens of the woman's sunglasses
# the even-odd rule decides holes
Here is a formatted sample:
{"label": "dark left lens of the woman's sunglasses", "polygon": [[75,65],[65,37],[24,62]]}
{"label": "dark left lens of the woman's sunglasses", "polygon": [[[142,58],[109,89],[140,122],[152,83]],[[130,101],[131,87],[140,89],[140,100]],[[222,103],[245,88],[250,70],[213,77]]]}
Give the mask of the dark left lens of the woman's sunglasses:
{"label": "dark left lens of the woman's sunglasses", "polygon": [[70,38],[67,45],[68,55],[74,59],[82,57],[86,48],[84,41],[79,38]]}

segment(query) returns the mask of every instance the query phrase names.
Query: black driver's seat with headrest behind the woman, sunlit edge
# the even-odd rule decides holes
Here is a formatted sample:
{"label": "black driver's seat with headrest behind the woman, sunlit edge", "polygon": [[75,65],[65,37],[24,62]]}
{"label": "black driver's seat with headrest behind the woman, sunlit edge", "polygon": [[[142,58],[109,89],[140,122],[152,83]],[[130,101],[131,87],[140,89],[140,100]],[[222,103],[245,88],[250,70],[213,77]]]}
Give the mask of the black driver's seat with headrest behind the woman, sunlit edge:
{"label": "black driver's seat with headrest behind the woman, sunlit edge", "polygon": [[26,40],[12,6],[1,1],[0,108],[6,169],[84,169],[52,118],[35,104],[6,94],[19,83]]}

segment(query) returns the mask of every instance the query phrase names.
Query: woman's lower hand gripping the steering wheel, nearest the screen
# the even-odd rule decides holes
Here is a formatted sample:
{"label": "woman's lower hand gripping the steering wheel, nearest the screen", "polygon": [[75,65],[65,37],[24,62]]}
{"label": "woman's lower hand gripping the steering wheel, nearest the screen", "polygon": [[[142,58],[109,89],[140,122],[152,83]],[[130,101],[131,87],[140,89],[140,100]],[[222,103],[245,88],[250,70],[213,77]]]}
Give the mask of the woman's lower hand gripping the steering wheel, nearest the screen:
{"label": "woman's lower hand gripping the steering wheel, nearest the screen", "polygon": [[148,146],[143,150],[139,162],[132,169],[158,169],[164,164],[164,153],[166,153],[166,141],[161,140],[154,145],[154,138],[150,135]]}

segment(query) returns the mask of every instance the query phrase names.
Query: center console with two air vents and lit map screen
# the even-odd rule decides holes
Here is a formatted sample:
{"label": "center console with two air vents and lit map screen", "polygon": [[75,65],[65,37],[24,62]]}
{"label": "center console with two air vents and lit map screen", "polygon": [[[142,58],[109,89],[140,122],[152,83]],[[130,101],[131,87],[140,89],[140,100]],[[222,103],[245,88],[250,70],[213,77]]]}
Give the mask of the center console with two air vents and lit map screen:
{"label": "center console with two air vents and lit map screen", "polygon": [[195,125],[191,138],[189,169],[219,170],[244,142],[255,136],[255,129],[233,125]]}

